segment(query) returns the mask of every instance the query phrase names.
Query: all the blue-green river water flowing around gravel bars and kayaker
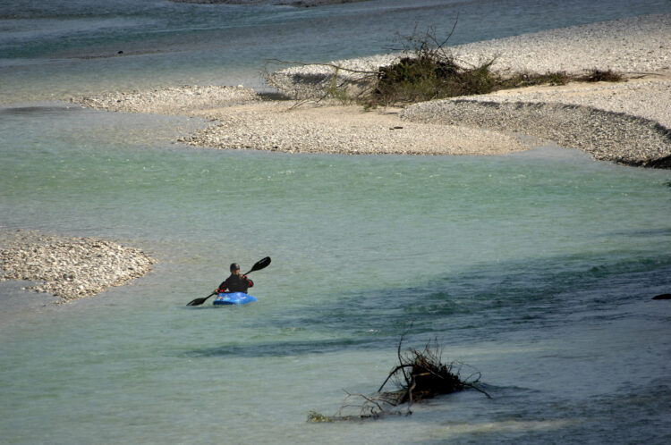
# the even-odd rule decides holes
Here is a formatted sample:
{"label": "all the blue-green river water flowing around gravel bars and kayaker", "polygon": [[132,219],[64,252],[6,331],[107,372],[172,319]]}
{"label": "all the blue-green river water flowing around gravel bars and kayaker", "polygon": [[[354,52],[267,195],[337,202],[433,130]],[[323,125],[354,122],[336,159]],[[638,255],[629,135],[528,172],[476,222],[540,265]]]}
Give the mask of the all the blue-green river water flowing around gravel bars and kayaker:
{"label": "all the blue-green river water flowing around gravel bars and kayaker", "polygon": [[[175,140],[207,122],[65,100],[262,88],[268,59],[384,53],[457,16],[455,44],[669,11],[0,0],[0,226],[115,239],[159,261],[94,298],[2,316],[0,443],[667,443],[671,306],[650,298],[671,291],[669,172],[558,147],[201,149]],[[257,303],[184,306],[231,262],[244,272],[263,256]],[[24,285],[0,282],[4,303],[42,298]],[[465,391],[412,416],[306,422],[335,414],[344,390],[377,390],[403,334],[480,371],[492,399]]]}

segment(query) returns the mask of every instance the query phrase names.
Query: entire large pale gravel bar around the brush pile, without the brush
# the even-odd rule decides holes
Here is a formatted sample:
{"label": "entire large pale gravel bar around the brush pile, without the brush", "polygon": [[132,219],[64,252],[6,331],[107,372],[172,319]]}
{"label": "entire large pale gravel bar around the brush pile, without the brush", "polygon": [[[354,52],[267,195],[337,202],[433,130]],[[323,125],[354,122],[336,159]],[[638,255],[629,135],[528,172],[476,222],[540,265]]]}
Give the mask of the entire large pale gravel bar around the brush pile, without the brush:
{"label": "entire large pale gravel bar around the brush pile, without the brush", "polygon": [[[412,105],[405,110],[259,100],[247,88],[157,88],[73,98],[98,109],[183,113],[213,122],[183,137],[196,147],[287,153],[500,155],[530,147],[514,134],[576,147],[596,159],[669,167],[671,164],[671,14],[553,29],[488,40],[452,50],[463,63],[496,57],[500,72],[598,68],[624,74],[624,83],[533,87]],[[338,61],[376,70],[398,55]],[[296,97],[323,88],[332,66],[307,65],[268,76]],[[356,75],[356,73],[350,75]],[[526,140],[526,139],[524,139]]]}

